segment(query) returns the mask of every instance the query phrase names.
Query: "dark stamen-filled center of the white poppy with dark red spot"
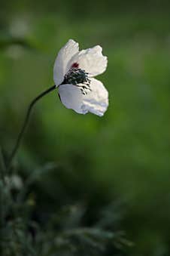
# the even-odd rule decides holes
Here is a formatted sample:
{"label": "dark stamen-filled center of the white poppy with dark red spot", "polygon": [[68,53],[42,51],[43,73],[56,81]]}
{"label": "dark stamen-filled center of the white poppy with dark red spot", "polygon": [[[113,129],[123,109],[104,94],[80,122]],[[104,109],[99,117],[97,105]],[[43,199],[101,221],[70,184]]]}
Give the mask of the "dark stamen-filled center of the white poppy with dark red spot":
{"label": "dark stamen-filled center of the white poppy with dark red spot", "polygon": [[90,89],[90,79],[88,78],[88,73],[83,69],[78,68],[78,64],[74,63],[71,69],[65,74],[64,81],[62,85],[71,84],[80,88],[83,95],[87,94]]}

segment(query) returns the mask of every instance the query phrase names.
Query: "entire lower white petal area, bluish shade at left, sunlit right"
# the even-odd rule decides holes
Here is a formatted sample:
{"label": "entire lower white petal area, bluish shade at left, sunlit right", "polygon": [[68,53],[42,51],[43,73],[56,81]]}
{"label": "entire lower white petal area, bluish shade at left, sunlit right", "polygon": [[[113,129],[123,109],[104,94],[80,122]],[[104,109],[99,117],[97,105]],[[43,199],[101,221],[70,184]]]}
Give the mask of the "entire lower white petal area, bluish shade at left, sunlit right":
{"label": "entire lower white petal area, bluish shade at left, sunlit right", "polygon": [[83,95],[76,85],[60,85],[59,96],[68,109],[74,109],[80,114],[91,112],[103,116],[108,108],[108,91],[97,79],[91,79],[90,88],[92,91],[88,90]]}

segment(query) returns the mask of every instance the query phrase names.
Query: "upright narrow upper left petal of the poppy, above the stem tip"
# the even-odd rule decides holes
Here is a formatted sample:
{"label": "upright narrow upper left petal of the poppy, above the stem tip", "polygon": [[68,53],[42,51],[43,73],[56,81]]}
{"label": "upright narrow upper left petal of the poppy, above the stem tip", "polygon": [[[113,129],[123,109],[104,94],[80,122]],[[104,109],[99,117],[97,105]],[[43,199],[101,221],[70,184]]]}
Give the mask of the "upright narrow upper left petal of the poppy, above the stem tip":
{"label": "upright narrow upper left petal of the poppy, above the stem tip", "polygon": [[53,66],[53,80],[56,86],[63,82],[65,73],[68,71],[68,61],[77,54],[78,49],[78,43],[72,39],[60,49]]}

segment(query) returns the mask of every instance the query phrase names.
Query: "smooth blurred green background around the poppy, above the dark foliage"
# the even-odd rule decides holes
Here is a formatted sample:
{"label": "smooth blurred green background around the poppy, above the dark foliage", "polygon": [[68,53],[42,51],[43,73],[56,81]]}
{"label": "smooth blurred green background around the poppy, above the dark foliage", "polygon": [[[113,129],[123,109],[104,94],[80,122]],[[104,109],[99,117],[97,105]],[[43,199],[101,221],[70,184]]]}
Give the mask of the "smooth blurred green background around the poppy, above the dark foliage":
{"label": "smooth blurred green background around the poppy, above the dark foliage", "polygon": [[53,91],[35,107],[15,164],[23,175],[47,162],[58,166],[38,184],[47,196],[42,208],[49,200],[87,200],[96,211],[105,202],[125,202],[121,228],[135,256],[170,253],[169,14],[170,3],[156,0],[1,1],[0,144],[6,153],[30,100],[53,85],[53,63],[68,39],[80,48],[102,45],[108,56],[98,77],[109,91],[105,116],[78,115]]}

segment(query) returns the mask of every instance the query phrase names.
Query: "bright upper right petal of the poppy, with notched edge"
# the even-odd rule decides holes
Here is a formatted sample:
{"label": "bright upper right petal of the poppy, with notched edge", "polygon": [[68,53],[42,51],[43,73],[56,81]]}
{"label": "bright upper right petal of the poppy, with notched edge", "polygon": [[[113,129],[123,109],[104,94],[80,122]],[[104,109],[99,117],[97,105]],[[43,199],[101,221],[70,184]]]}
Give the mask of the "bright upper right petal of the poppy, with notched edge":
{"label": "bright upper right petal of the poppy, with notched edge", "polygon": [[97,76],[105,72],[108,58],[102,55],[102,47],[96,45],[93,48],[82,50],[74,54],[68,62],[68,69],[73,63],[78,63],[80,69],[84,69],[89,76]]}

